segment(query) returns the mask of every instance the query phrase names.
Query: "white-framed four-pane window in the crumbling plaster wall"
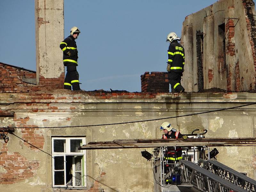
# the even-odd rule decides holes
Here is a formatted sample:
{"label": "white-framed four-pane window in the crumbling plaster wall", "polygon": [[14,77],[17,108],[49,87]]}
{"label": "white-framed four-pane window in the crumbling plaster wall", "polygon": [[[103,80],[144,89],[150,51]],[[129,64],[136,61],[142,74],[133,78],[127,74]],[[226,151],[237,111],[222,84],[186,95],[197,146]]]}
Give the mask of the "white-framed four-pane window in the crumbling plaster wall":
{"label": "white-framed four-pane window in the crumbling plaster wall", "polygon": [[52,186],[80,188],[86,186],[85,137],[52,137]]}

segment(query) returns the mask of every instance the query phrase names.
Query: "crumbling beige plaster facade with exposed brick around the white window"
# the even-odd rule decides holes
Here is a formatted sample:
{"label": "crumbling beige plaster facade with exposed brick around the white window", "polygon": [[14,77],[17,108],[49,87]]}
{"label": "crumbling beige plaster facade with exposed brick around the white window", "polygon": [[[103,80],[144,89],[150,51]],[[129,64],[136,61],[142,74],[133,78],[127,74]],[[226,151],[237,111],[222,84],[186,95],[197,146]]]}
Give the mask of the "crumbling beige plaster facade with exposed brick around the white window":
{"label": "crumbling beige plaster facade with exposed brick around the white window", "polygon": [[[126,94],[126,95],[124,95]],[[10,167],[2,159],[24,156],[24,161],[36,161],[38,167],[31,169],[24,179],[6,178],[1,189],[12,191],[48,192],[52,189],[52,136],[86,136],[90,141],[112,141],[114,139],[161,138],[159,126],[169,121],[182,133],[194,129],[207,129],[206,137],[252,137],[256,130],[254,105],[205,113],[195,116],[170,118],[168,120],[145,121],[120,125],[112,124],[165,117],[175,117],[255,102],[254,93],[0,93],[2,111],[13,111],[15,117],[2,117],[3,127],[13,126],[14,134],[5,144],[0,140],[0,162],[4,166],[0,175]],[[107,99],[108,98],[108,99]],[[47,127],[67,128],[47,128]],[[70,127],[69,127],[70,126]],[[77,126],[77,127],[72,127]],[[28,128],[22,128],[28,127]],[[27,137],[27,134],[30,134]],[[43,138],[42,138],[43,137]],[[39,142],[40,141],[40,142]],[[29,144],[28,144],[29,143]],[[31,146],[32,144],[33,146]],[[87,190],[84,191],[148,191],[153,192],[153,174],[150,162],[141,157],[144,149],[108,149],[86,151]],[[147,149],[152,151],[152,148]],[[254,154],[252,147],[218,147],[218,160],[231,168],[253,173]],[[251,163],[250,163],[251,162]],[[19,162],[20,164],[23,161]],[[31,163],[31,162],[30,162]],[[34,162],[35,163],[35,162]],[[25,167],[10,167],[22,172]],[[18,168],[17,168],[18,167]],[[9,180],[8,180],[9,179]],[[13,179],[13,180],[11,180]]]}

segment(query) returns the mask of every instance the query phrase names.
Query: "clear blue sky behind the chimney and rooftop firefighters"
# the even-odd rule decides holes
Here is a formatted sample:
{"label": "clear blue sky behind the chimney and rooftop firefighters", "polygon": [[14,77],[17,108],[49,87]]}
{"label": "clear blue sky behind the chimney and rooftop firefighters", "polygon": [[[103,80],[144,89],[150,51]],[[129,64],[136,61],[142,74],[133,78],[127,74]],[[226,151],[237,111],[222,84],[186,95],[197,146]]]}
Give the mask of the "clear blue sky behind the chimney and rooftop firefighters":
{"label": "clear blue sky behind the chimney and rooftop firefighters", "polygon": [[[166,71],[167,34],[180,36],[187,15],[215,2],[64,0],[65,37],[73,26],[81,31],[81,89],[140,92],[140,75]],[[34,7],[34,0],[0,0],[0,62],[36,70]]]}

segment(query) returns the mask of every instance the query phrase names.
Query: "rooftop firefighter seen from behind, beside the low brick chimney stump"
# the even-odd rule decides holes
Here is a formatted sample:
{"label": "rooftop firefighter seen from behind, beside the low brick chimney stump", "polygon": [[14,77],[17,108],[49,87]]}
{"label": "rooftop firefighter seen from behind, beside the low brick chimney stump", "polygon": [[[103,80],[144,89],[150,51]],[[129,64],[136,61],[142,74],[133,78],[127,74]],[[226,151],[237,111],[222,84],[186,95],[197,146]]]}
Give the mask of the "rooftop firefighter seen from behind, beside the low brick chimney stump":
{"label": "rooftop firefighter seen from behind, beside the low brick chimney stump", "polygon": [[178,43],[180,38],[174,33],[169,33],[166,42],[169,42],[167,71],[169,83],[173,92],[184,92],[185,89],[180,84],[184,71],[185,54],[184,48]]}

